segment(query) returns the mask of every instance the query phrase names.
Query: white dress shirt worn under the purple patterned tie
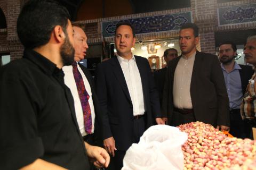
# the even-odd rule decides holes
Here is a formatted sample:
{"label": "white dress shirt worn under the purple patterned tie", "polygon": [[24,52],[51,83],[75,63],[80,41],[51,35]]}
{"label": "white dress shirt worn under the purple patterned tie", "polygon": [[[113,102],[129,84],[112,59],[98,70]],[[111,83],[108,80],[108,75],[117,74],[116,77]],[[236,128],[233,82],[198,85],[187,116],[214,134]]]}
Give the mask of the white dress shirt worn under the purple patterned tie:
{"label": "white dress shirt worn under the purple patterned tie", "polygon": [[[92,133],[93,133],[94,132],[95,112],[94,112],[94,106],[93,106],[93,101],[92,101],[92,91],[91,91],[91,87],[90,87],[90,84],[89,84],[88,80],[86,79],[81,67],[78,64],[77,64],[77,69],[82,75],[82,78],[84,80],[85,89],[86,89],[87,93],[90,96],[89,105],[90,105],[90,108],[91,108]],[[65,84],[70,89],[71,94],[74,98],[76,118],[77,118],[77,123],[78,123],[78,126],[79,126],[79,130],[80,130],[82,136],[85,136],[86,132],[85,132],[85,129],[84,129],[84,114],[83,114],[83,109],[82,109],[81,101],[80,101],[80,98],[79,98],[79,95],[78,95],[78,90],[77,90],[77,87],[76,87],[76,82],[75,82],[75,78],[74,78],[74,74],[73,74],[73,66],[72,65],[64,66],[62,68],[62,70],[65,73],[65,76],[64,76]]]}

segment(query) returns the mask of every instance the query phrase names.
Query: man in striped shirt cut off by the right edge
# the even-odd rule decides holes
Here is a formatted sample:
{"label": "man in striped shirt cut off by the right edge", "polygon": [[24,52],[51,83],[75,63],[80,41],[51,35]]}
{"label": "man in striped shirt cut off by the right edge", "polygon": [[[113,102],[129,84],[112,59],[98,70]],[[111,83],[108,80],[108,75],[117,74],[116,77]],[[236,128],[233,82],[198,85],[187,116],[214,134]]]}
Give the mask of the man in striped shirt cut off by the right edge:
{"label": "man in striped shirt cut off by the right edge", "polygon": [[[250,125],[250,138],[252,137],[252,128],[256,127],[256,35],[247,38],[247,43],[244,46],[245,61],[253,65],[254,74],[249,80],[244,98],[241,105],[241,115]],[[255,139],[254,139],[255,140]]]}

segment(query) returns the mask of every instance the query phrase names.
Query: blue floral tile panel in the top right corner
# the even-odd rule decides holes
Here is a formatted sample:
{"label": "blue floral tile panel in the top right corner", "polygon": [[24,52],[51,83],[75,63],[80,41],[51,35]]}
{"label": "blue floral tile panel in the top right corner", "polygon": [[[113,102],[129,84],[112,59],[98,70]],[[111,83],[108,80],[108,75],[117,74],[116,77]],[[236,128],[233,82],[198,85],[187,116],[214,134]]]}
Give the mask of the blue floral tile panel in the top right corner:
{"label": "blue floral tile panel in the top right corner", "polygon": [[219,25],[256,22],[256,4],[218,8]]}

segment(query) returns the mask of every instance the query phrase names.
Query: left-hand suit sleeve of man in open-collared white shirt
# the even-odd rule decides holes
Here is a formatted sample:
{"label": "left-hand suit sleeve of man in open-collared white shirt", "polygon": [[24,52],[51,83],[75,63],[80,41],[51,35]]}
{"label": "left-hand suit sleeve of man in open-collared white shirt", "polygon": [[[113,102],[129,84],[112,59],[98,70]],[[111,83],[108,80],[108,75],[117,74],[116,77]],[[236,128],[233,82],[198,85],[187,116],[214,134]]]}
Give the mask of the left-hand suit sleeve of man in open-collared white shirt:
{"label": "left-hand suit sleeve of man in open-collared white shirt", "polygon": [[95,74],[95,85],[97,96],[99,99],[99,105],[101,107],[101,112],[98,114],[98,117],[101,125],[103,140],[113,136],[111,133],[108,117],[108,96],[105,73],[106,72],[104,71],[102,64],[99,64]]}

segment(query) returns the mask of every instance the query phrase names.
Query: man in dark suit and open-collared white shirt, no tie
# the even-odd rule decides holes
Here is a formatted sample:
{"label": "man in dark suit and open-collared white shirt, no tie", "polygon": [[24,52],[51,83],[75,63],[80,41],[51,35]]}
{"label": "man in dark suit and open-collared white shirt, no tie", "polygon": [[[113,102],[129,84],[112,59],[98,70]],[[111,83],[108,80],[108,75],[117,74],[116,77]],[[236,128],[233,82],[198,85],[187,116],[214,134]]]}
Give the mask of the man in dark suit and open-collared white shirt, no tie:
{"label": "man in dark suit and open-collared white shirt, no tie", "polygon": [[131,52],[135,34],[130,23],[116,25],[116,57],[98,65],[97,94],[103,145],[113,156],[110,164],[123,166],[126,150],[138,143],[143,132],[153,125],[164,124],[158,92],[146,58]]}

